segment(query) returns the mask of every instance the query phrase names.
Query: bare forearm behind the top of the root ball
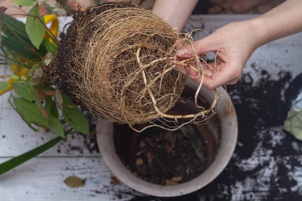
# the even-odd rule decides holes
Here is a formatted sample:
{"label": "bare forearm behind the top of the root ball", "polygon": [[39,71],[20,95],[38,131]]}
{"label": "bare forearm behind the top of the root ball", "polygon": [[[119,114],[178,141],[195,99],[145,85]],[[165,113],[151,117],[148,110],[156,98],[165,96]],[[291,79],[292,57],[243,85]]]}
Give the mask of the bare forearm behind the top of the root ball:
{"label": "bare forearm behind the top of the root ball", "polygon": [[157,0],[153,12],[181,32],[198,0]]}

